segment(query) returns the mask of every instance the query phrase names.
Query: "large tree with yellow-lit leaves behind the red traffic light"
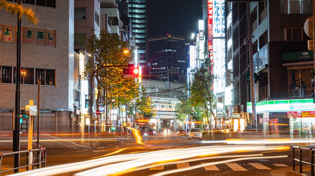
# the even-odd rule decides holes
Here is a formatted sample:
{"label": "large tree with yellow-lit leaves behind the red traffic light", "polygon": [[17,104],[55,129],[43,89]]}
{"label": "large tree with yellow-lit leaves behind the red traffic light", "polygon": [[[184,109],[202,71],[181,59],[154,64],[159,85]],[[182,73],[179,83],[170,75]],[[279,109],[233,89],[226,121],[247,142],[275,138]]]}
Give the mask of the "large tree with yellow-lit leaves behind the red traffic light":
{"label": "large tree with yellow-lit leaves behind the red traffic light", "polygon": [[[106,99],[106,93],[102,94],[102,90],[108,92],[107,101],[111,107],[112,103],[115,105],[115,102],[118,102],[118,99],[120,103],[134,99],[139,90],[139,83],[135,78],[125,78],[123,68],[126,66],[122,67],[128,65],[133,58],[129,42],[124,42],[116,34],[104,30],[100,34],[94,32],[92,30],[91,36],[87,39],[86,50],[92,55],[92,59],[87,63],[85,73],[95,73],[98,90],[96,108],[99,108],[101,97]],[[123,50],[129,50],[129,53],[126,54]]]}

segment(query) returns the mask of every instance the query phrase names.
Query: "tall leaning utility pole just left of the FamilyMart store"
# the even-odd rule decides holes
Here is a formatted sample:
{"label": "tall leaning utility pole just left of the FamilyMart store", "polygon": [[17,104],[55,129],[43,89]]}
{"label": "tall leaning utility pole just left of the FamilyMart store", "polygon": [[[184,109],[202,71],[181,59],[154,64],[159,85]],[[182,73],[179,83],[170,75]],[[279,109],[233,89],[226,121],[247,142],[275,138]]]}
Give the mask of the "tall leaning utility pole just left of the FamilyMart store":
{"label": "tall leaning utility pole just left of the FamilyMart store", "polygon": [[255,98],[255,77],[254,77],[254,61],[253,61],[253,43],[250,22],[250,3],[247,2],[247,23],[248,23],[248,50],[249,50],[249,73],[250,73],[250,97],[252,102],[252,117],[258,132],[257,114],[256,114],[256,98]]}

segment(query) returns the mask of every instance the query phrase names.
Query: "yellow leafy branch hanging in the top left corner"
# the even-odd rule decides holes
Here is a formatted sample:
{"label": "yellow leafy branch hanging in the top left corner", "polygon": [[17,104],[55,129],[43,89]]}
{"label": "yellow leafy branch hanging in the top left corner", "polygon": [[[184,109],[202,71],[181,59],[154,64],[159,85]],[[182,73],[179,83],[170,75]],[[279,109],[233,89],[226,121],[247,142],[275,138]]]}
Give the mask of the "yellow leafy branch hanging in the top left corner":
{"label": "yellow leafy branch hanging in the top left corner", "polygon": [[37,26],[38,19],[35,17],[35,13],[32,9],[23,8],[16,3],[8,3],[6,0],[0,0],[0,9],[6,9],[8,12],[11,12],[12,15],[19,14],[19,18],[22,17],[22,14],[26,16],[31,23]]}

